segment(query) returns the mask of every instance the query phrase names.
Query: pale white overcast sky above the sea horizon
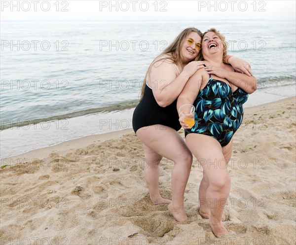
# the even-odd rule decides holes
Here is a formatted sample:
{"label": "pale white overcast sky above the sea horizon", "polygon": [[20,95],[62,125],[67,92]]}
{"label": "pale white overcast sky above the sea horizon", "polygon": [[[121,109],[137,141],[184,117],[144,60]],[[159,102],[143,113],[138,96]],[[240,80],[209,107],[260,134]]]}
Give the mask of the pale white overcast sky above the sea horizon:
{"label": "pale white overcast sky above the sea horizon", "polygon": [[295,2],[295,0],[1,0],[0,20],[295,20]]}

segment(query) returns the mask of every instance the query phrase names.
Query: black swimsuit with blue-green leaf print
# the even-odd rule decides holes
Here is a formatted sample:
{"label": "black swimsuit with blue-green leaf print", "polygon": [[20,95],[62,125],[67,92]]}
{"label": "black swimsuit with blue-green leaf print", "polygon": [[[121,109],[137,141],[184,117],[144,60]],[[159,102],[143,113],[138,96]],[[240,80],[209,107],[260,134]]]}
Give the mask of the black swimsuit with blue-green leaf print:
{"label": "black swimsuit with blue-green leaf print", "polygon": [[247,99],[248,94],[241,88],[232,92],[229,84],[210,75],[193,103],[195,124],[185,129],[185,137],[190,133],[203,134],[215,138],[221,146],[227,145],[242,123]]}

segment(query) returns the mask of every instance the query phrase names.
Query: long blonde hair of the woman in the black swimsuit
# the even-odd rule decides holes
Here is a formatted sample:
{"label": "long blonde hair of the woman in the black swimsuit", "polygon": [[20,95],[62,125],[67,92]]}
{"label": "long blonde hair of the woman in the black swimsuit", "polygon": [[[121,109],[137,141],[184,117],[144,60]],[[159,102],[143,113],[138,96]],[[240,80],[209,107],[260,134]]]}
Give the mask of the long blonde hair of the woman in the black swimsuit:
{"label": "long blonde hair of the woman in the black swimsuit", "polygon": [[[169,59],[172,63],[179,64],[182,60],[182,54],[181,54],[182,46],[185,42],[186,36],[188,36],[191,32],[195,32],[200,37],[202,37],[201,31],[199,31],[198,29],[196,29],[194,27],[186,28],[176,37],[176,39],[160,55],[158,55],[152,61],[152,63],[150,64],[150,66],[146,72],[146,75],[145,75],[145,78],[144,78],[144,81],[142,84],[141,99],[140,100],[142,100],[142,98],[143,98],[147,77],[148,77],[148,75],[150,75],[151,67],[155,64],[155,62],[161,61],[161,60],[163,60],[163,62],[164,62],[166,59]],[[170,56],[169,58],[168,57],[161,57],[161,56],[164,56],[167,54]],[[196,56],[196,58],[192,59],[192,61],[194,61],[194,60],[197,61],[200,59],[201,59],[201,52],[199,52],[199,54]]]}

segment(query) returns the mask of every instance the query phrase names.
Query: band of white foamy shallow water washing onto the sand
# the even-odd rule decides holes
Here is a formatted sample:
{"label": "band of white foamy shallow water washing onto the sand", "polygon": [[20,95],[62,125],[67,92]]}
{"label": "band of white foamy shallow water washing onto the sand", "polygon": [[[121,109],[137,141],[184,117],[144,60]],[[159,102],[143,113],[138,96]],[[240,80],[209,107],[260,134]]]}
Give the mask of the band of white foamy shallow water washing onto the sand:
{"label": "band of white foamy shallow water washing onto the sand", "polygon": [[[295,85],[259,87],[249,95],[244,108],[295,96]],[[0,159],[12,158],[69,140],[131,129],[133,111],[134,108],[109,111],[2,130]]]}

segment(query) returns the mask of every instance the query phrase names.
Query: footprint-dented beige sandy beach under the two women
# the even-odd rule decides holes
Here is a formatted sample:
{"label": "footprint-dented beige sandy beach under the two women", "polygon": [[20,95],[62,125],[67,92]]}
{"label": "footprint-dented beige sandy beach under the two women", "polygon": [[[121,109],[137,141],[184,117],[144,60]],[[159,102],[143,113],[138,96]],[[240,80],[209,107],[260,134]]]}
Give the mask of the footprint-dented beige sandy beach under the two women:
{"label": "footprint-dented beige sandy beach under the two women", "polygon": [[[173,164],[160,163],[165,198]],[[0,244],[294,245],[295,164],[296,97],[246,108],[228,164],[223,219],[230,235],[217,239],[198,214],[196,159],[181,224],[149,200],[144,152],[132,129],[66,141],[1,160]]]}

